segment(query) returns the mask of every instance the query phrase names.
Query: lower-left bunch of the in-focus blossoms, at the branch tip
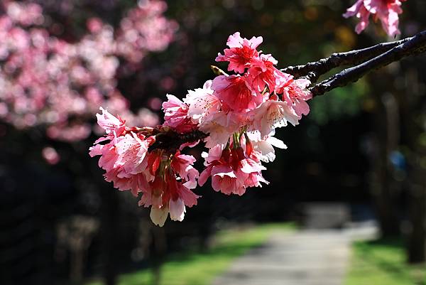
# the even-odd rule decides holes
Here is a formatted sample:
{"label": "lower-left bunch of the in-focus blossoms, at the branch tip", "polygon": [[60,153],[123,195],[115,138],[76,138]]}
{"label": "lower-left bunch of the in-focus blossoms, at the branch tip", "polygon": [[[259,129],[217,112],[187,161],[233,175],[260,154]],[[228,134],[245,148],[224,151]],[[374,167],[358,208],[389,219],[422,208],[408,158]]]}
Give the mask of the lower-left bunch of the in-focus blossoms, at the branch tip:
{"label": "lower-left bunch of the in-focus blossoms, at the branch tip", "polygon": [[179,151],[148,152],[155,136],[145,136],[144,132],[148,134],[151,128],[126,127],[105,109],[97,118],[106,134],[95,141],[89,154],[101,156],[99,167],[106,171],[105,179],[135,196],[142,192],[139,205],[151,206],[151,218],[156,225],[164,224],[169,211],[172,220],[183,220],[185,206],[197,204],[198,196],[190,190],[196,187],[199,176],[192,167],[195,158]]}

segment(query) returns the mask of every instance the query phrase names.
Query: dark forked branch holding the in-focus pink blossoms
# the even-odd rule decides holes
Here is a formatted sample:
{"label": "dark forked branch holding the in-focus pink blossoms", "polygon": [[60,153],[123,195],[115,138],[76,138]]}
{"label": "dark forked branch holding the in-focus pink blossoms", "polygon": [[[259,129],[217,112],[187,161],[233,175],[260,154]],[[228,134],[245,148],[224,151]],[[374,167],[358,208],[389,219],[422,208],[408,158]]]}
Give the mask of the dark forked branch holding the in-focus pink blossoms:
{"label": "dark forked branch holding the in-focus pink blossoms", "polygon": [[[356,82],[371,70],[382,68],[406,56],[417,55],[425,51],[426,31],[422,31],[413,37],[405,38],[400,41],[379,43],[369,48],[351,50],[345,53],[333,53],[329,58],[323,58],[316,62],[307,63],[306,65],[289,66],[281,71],[289,73],[296,78],[306,77],[311,80],[311,82],[317,82],[320,75],[324,75],[324,73],[334,68],[355,65],[310,87],[312,95],[318,96],[334,88],[348,85],[350,82]],[[217,66],[212,65],[210,68],[212,68],[212,71],[216,75],[227,75],[224,70],[217,68]],[[208,136],[208,134],[199,130],[181,134],[173,129],[163,129],[162,127],[151,129],[150,134],[155,135],[155,143],[149,147],[148,151],[153,151],[154,149],[175,151],[179,149],[182,144],[192,143]]]}

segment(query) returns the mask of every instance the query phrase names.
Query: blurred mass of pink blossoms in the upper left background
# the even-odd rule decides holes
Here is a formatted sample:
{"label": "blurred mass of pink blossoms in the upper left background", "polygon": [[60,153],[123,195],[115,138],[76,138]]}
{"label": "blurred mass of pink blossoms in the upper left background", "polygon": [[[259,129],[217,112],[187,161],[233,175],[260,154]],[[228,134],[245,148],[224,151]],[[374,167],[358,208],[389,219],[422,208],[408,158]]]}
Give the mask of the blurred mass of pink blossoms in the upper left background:
{"label": "blurred mass of pink blossoms in the upper left background", "polygon": [[141,1],[116,29],[90,18],[88,33],[72,43],[50,33],[40,5],[2,5],[0,120],[18,129],[43,126],[50,139],[61,141],[87,138],[99,105],[132,124],[158,124],[148,109],[129,110],[116,77],[121,64],[136,65],[173,40],[177,23],[163,16],[163,1]]}

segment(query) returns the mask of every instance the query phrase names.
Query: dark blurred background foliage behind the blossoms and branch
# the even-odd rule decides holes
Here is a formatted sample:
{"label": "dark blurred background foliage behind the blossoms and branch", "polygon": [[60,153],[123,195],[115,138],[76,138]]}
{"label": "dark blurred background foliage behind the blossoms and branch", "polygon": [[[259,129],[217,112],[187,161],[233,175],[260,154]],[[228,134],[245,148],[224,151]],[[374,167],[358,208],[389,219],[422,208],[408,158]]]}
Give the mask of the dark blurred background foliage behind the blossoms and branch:
{"label": "dark blurred background foliage behind the blossoms and branch", "polygon": [[[58,36],[67,41],[84,35],[87,18],[97,16],[117,25],[120,15],[135,4],[129,0],[39,2],[62,25]],[[59,2],[75,5],[62,11]],[[342,17],[350,2],[168,1],[165,14],[180,26],[175,41],[164,52],[146,57],[137,72],[120,74],[119,90],[134,109],[149,107],[155,98],[165,100],[166,93],[185,96],[188,89],[212,79],[209,65],[216,64],[214,58],[235,31],[246,38],[263,36],[261,50],[272,53],[280,68],[388,40],[374,23],[357,36],[355,20]],[[400,28],[403,36],[410,36],[424,26],[421,11],[426,7],[413,0],[403,7]],[[199,205],[187,210],[183,222],[168,221],[163,229],[151,225],[148,210],[138,208],[130,193],[116,191],[103,181],[97,159],[87,154],[94,135],[65,144],[46,138],[38,128],[20,131],[0,122],[0,283],[65,284],[94,275],[113,280],[118,272],[155,266],[165,252],[203,248],[212,232],[229,223],[300,219],[300,205],[306,202],[348,203],[354,219],[364,217],[370,215],[368,209],[380,210],[376,198],[381,192],[374,189],[383,183],[393,189],[385,213],[407,220],[407,178],[415,166],[410,168],[405,161],[411,158],[425,168],[420,155],[425,144],[424,99],[420,99],[425,92],[424,61],[423,57],[395,63],[315,98],[299,126],[278,131],[276,136],[288,149],[278,151],[268,164],[264,176],[269,185],[249,189],[241,197],[215,193],[208,185],[198,188]],[[391,101],[386,100],[398,106],[396,113],[387,111],[385,103]],[[385,113],[396,123],[389,127]],[[413,131],[415,125],[405,122],[415,122],[420,130]],[[388,146],[392,131],[398,139]],[[55,166],[40,155],[46,144],[60,153]],[[190,153],[200,158],[200,151]],[[378,165],[378,161],[384,162]],[[386,178],[380,174],[383,171]],[[360,208],[367,210],[359,213]],[[84,260],[81,268],[75,260]]]}

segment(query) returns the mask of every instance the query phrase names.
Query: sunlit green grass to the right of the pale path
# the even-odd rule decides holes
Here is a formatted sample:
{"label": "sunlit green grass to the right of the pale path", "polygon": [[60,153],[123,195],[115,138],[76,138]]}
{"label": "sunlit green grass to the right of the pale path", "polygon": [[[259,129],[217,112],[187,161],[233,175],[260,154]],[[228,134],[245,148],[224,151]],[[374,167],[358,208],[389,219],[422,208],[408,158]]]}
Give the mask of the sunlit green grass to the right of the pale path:
{"label": "sunlit green grass to the right of the pale path", "polygon": [[408,265],[401,240],[355,242],[345,285],[426,284],[425,265]]}

